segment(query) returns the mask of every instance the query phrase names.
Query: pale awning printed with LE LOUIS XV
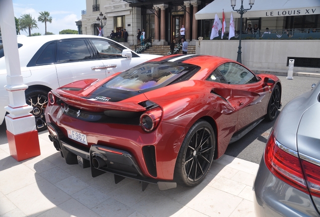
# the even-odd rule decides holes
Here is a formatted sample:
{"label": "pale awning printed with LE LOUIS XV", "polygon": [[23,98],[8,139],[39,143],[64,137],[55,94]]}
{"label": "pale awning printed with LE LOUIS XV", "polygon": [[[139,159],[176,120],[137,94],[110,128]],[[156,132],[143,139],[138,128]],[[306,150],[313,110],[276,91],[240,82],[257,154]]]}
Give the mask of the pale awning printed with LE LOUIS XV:
{"label": "pale awning printed with LE LOUIS XV", "polygon": [[[244,8],[250,9],[249,0],[244,0]],[[235,10],[241,7],[241,0],[236,1]],[[196,20],[214,19],[217,13],[222,18],[224,15],[233,18],[240,18],[240,15],[232,10],[230,0],[214,0],[212,3],[201,9],[195,14]],[[315,15],[320,14],[319,0],[256,0],[250,11],[243,15],[244,18],[260,17],[284,17],[297,15]]]}

